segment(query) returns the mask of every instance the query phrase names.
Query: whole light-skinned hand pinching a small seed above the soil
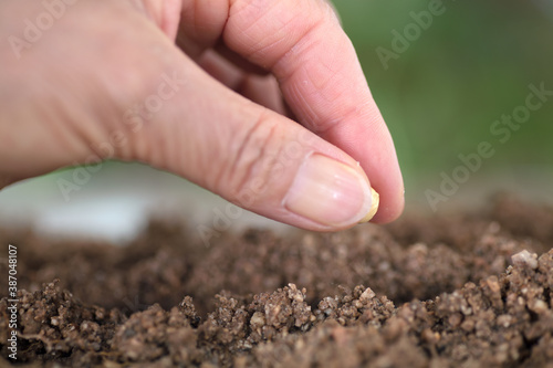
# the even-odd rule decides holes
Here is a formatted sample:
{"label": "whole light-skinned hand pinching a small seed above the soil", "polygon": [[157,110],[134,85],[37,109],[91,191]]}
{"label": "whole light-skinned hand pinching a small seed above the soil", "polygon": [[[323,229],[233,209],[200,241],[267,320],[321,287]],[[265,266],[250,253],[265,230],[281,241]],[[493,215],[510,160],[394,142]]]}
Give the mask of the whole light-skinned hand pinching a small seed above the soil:
{"label": "whole light-skinned hand pinching a small seed above the soil", "polygon": [[[311,217],[294,199],[313,188],[300,172],[331,162],[379,193],[373,222],[401,213],[392,137],[327,2],[81,0],[18,54],[6,40],[25,40],[23,20],[41,12],[39,1],[0,4],[0,187],[136,160],[268,218],[334,231],[358,222],[356,204],[348,218],[344,196],[311,191],[322,209]],[[128,119],[152,96],[161,105]]]}

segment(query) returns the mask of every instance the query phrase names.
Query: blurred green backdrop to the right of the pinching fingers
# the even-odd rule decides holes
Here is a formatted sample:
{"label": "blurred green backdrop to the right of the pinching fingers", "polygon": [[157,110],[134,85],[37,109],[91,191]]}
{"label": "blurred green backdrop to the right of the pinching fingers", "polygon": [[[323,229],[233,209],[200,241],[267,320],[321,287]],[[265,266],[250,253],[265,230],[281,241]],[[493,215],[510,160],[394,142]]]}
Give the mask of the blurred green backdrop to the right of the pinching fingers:
{"label": "blurred green backdrop to the right of the pinching fingers", "polygon": [[334,3],[394,136],[408,199],[421,201],[425,188],[436,190],[440,172],[451,174],[458,155],[483,140],[497,154],[472,175],[467,191],[533,180],[539,194],[553,197],[553,181],[544,182],[553,171],[553,98],[504,145],[490,134],[495,119],[524,104],[529,84],[544,82],[553,91],[552,1],[445,0],[444,13],[388,70],[376,49],[393,50],[392,31],[404,33],[414,23],[410,12],[428,11],[430,2]]}

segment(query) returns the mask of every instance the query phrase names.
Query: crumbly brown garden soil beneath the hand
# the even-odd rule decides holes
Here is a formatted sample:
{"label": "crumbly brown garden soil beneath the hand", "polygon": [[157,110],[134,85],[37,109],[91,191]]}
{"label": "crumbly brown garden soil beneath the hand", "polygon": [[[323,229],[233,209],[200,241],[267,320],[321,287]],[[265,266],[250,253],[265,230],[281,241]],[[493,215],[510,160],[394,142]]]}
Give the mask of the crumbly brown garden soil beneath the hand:
{"label": "crumbly brown garden soil beneath the hand", "polygon": [[[553,368],[553,209],[492,203],[210,248],[167,222],[123,248],[0,230],[18,245],[18,362]],[[0,296],[3,366],[7,285]]]}

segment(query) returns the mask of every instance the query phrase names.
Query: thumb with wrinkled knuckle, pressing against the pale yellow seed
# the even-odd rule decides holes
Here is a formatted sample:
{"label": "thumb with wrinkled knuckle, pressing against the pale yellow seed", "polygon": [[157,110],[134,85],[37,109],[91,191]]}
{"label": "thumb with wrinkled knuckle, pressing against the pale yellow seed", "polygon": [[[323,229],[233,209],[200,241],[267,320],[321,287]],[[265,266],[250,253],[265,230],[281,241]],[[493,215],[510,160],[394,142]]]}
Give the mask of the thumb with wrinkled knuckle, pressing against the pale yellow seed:
{"label": "thumb with wrinkled knuckle, pressing against the pale yellow seed", "polygon": [[288,224],[330,231],[371,220],[378,196],[358,162],[177,59],[157,88],[175,93],[137,126],[133,159]]}

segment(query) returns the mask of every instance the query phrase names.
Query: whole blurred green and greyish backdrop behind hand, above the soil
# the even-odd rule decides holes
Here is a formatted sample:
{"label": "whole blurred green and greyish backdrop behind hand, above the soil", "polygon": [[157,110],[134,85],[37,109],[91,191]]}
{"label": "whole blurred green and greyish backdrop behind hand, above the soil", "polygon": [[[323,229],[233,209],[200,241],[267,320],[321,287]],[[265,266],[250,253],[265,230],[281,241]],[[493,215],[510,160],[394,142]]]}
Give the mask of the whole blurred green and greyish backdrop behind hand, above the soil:
{"label": "whole blurred green and greyish backdrop behind hand, above the soil", "polygon": [[[553,91],[553,2],[445,0],[434,8],[436,2],[335,1],[395,139],[407,212],[447,215],[498,190],[552,202],[553,96],[528,117],[519,106],[531,84]],[[513,112],[524,123],[501,141],[507,126],[499,134],[494,122]],[[477,154],[483,141],[494,155],[482,158],[478,170],[460,168],[467,165],[459,155]],[[1,223],[113,241],[131,239],[160,213],[195,229],[286,229],[246,212],[221,220],[230,209],[220,198],[137,164],[106,162],[67,198],[60,180],[73,175],[62,170],[0,191]],[[440,189],[446,177],[458,185],[447,196]],[[429,191],[442,196],[434,207]]]}

